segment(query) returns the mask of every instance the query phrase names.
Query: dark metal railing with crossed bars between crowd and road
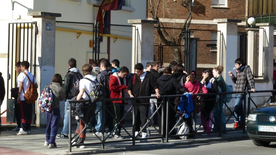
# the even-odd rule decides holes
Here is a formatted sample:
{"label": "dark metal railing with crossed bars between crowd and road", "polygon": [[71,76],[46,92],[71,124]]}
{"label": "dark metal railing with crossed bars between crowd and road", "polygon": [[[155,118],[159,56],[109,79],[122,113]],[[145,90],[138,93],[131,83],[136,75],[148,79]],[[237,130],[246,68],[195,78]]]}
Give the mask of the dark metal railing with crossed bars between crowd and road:
{"label": "dark metal railing with crossed bars between crowd and road", "polygon": [[[269,101],[270,102],[274,102],[274,96],[273,96],[273,92],[276,92],[276,90],[262,90],[262,91],[256,91],[254,94],[256,93],[270,93],[270,95],[261,95],[262,97],[267,97],[267,102],[268,103]],[[69,152],[72,151],[72,147],[74,146],[87,146],[87,145],[99,145],[101,144],[102,146],[102,149],[104,149],[104,146],[105,144],[107,143],[118,143],[118,142],[132,142],[132,145],[135,145],[135,142],[137,140],[149,140],[149,139],[161,139],[161,142],[169,142],[169,138],[172,138],[172,137],[179,137],[179,136],[191,136],[192,138],[196,138],[196,135],[198,134],[202,134],[202,133],[215,133],[215,132],[218,132],[219,133],[219,136],[221,136],[222,132],[227,132],[227,131],[237,131],[237,130],[242,130],[243,133],[246,133],[246,127],[245,127],[245,124],[246,124],[246,113],[247,115],[249,115],[250,113],[250,106],[251,106],[251,103],[253,103],[254,107],[258,107],[257,104],[253,101],[252,98],[254,97],[260,97],[260,96],[252,96],[252,91],[238,91],[238,92],[220,92],[220,93],[208,93],[208,94],[194,94],[194,96],[219,96],[219,99],[218,101],[215,101],[216,99],[203,99],[203,100],[198,100],[197,97],[194,97],[194,101],[193,101],[193,105],[194,105],[194,111],[196,111],[197,107],[198,106],[201,106],[198,101],[207,101],[207,100],[214,100],[216,104],[219,104],[219,124],[215,124],[214,120],[210,119],[212,121],[212,123],[214,124],[214,126],[217,127],[218,131],[210,131],[210,132],[200,132],[199,129],[200,127],[202,126],[202,122],[201,124],[197,127],[197,114],[196,112],[193,112],[191,114],[191,116],[193,116],[194,118],[194,122],[193,122],[193,127],[189,127],[189,129],[192,131],[190,133],[187,133],[187,134],[182,134],[182,135],[177,135],[177,134],[174,134],[173,130],[175,130],[175,128],[179,125],[180,121],[182,122],[185,122],[186,124],[187,121],[184,119],[184,115],[185,115],[185,112],[183,114],[179,114],[178,111],[175,110],[173,104],[175,103],[175,101],[173,101],[172,99],[175,98],[175,97],[183,97],[183,96],[186,96],[186,95],[170,95],[170,96],[161,96],[160,99],[157,100],[157,110],[154,111],[154,113],[152,114],[151,117],[147,117],[146,114],[144,114],[141,109],[139,108],[138,105],[147,105],[147,104],[150,104],[150,103],[140,103],[138,104],[136,101],[137,100],[142,100],[142,99],[154,99],[155,97],[154,96],[148,96],[148,97],[134,97],[134,98],[115,98],[115,99],[104,99],[103,100],[103,104],[102,106],[99,108],[99,110],[95,113],[95,115],[93,117],[96,117],[97,114],[102,110],[103,112],[103,115],[102,115],[102,121],[101,121],[101,124],[102,124],[102,136],[101,137],[98,137],[96,134],[95,136],[97,137],[96,139],[98,139],[99,141],[98,142],[89,142],[89,143],[82,143],[82,144],[72,144],[73,141],[76,141],[76,138],[75,139],[72,139],[72,125],[71,125],[71,117],[69,117]],[[242,119],[242,128],[238,128],[238,129],[228,129],[228,130],[222,130],[222,120],[221,120],[221,114],[223,112],[222,110],[222,106],[225,105],[226,108],[230,111],[230,116],[228,117],[227,121],[226,121],[226,124],[229,122],[229,120],[232,118],[232,116],[236,117],[234,115],[234,110],[231,109],[231,107],[229,107],[225,101],[223,99],[225,99],[225,95],[226,94],[241,94],[245,99],[243,101],[243,119]],[[246,96],[248,95],[248,98],[246,98]],[[236,97],[232,97],[232,98],[236,98]],[[116,120],[116,122],[118,122],[114,127],[113,127],[113,130],[118,126],[118,124],[120,124],[126,117],[129,113],[131,113],[131,116],[132,116],[132,129],[130,129],[131,131],[128,131],[126,129],[126,127],[122,126],[122,130],[124,130],[126,132],[126,134],[132,138],[132,139],[123,139],[123,140],[110,140],[108,139],[110,136],[112,136],[112,131],[109,131],[109,134],[105,136],[105,121],[106,121],[106,118],[105,118],[105,113],[109,113],[110,115],[113,116],[113,118],[109,118],[109,119],[115,119],[116,117],[114,116],[113,112],[110,111],[110,108],[108,108],[108,106],[113,106],[111,104],[108,104],[112,101],[130,101],[131,104],[129,105],[130,107],[127,108],[126,110],[126,113],[124,114],[124,116],[120,119],[120,120]],[[76,101],[69,101],[69,114],[70,116],[72,116],[72,103],[81,103],[81,102],[88,102],[89,100],[76,100]],[[126,106],[124,104],[122,104],[121,106]],[[91,106],[90,106],[91,107]],[[95,106],[93,106],[95,107]],[[215,106],[214,106],[215,107]],[[214,107],[212,108],[212,110],[214,109]],[[88,108],[88,106],[85,106],[85,107],[82,107],[82,108]],[[169,118],[171,117],[170,116],[170,108],[173,108],[174,112],[177,113],[178,117],[179,117],[179,120],[174,122],[173,123],[173,127],[172,129],[169,129]],[[203,107],[201,106],[201,109],[203,110]],[[212,111],[211,110],[211,111]],[[151,137],[147,137],[147,138],[139,138],[137,139],[135,137],[135,123],[136,123],[136,113],[137,111],[140,111],[140,114],[143,115],[145,118],[146,118],[146,123],[145,124],[141,124],[141,129],[140,131],[138,132],[138,135],[140,134],[140,132],[142,132],[142,130],[144,128],[146,128],[148,126],[148,124],[150,124],[156,131],[157,131],[157,135],[154,135],[154,136],[151,136]],[[247,111],[247,112],[246,112]],[[73,111],[75,113],[75,111]],[[172,112],[172,111],[171,111]],[[203,110],[203,112],[206,113],[206,111]],[[94,113],[94,111],[92,111],[92,113]],[[161,124],[159,125],[159,130],[157,129],[157,127],[154,126],[154,124],[152,124],[150,122],[151,118],[153,118],[154,115],[158,114],[159,116],[161,116]],[[77,113],[75,113],[75,115],[79,116]],[[92,118],[93,118],[92,117]],[[82,120],[82,118],[80,117],[80,119]],[[206,121],[207,118],[205,118],[204,121]],[[89,123],[88,122],[85,122],[85,127],[82,129],[82,131],[79,131],[79,133],[77,134],[77,137],[80,136],[80,134],[86,130],[86,128],[89,128],[91,132],[94,133],[94,131],[92,130],[91,127],[88,126]],[[161,129],[160,129],[161,127]],[[107,141],[108,140],[108,141]]]}

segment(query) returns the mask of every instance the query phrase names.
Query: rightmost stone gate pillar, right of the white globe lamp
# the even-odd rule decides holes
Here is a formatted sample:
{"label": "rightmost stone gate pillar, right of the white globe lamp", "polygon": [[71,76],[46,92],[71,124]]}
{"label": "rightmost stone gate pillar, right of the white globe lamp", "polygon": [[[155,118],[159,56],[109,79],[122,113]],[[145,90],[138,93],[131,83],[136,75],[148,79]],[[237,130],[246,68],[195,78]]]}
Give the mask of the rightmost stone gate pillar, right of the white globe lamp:
{"label": "rightmost stone gate pillar, right of the white globe lamp", "polygon": [[[267,88],[267,90],[272,90],[272,82],[273,82],[273,30],[274,23],[257,23],[256,26],[259,26],[259,49],[263,48],[263,57],[264,57],[264,79],[269,79],[269,83],[271,86]],[[263,37],[261,37],[263,36]],[[259,54],[260,57],[260,54]],[[259,60],[260,62],[260,60]],[[262,62],[262,61],[261,61]]]}

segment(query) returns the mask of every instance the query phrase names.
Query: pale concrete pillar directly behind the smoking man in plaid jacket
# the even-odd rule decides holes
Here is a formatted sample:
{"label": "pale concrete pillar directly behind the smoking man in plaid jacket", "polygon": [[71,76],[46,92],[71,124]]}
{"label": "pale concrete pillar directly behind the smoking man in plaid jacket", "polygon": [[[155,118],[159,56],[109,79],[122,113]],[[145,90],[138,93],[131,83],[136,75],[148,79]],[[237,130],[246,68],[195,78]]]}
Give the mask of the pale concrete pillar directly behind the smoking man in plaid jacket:
{"label": "pale concrete pillar directly behind the smoking man in plaid jacket", "polygon": [[[221,32],[220,39],[220,59],[221,65],[223,65],[223,78],[227,84],[232,85],[233,82],[228,76],[228,71],[232,71],[234,74],[236,70],[233,70],[235,67],[234,62],[237,59],[237,23],[241,23],[241,20],[237,19],[214,19],[214,22],[218,25],[218,31]],[[234,84],[233,84],[234,85]]]}

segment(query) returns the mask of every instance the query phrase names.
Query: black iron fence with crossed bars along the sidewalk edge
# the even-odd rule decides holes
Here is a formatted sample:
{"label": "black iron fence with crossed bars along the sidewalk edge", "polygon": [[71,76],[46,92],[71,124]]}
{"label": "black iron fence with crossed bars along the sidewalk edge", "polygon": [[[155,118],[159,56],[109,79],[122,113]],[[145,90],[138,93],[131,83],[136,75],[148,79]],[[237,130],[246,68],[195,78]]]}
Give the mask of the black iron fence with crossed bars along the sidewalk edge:
{"label": "black iron fence with crossed bars along the sidewalk edge", "polygon": [[[179,111],[177,111],[175,109],[175,104],[177,104],[175,101],[174,101],[174,98],[176,97],[184,97],[186,95],[172,95],[172,96],[161,96],[160,99],[157,100],[157,110],[154,111],[153,115],[150,116],[150,117],[147,117],[147,114],[143,113],[143,111],[141,110],[140,106],[141,105],[147,105],[147,104],[150,104],[150,103],[140,103],[138,104],[136,101],[137,100],[141,100],[141,99],[146,99],[146,100],[149,100],[149,99],[153,99],[155,97],[134,97],[134,98],[116,98],[116,99],[104,99],[103,101],[103,104],[101,107],[99,107],[98,111],[96,111],[96,114],[93,116],[93,117],[96,117],[96,115],[102,110],[103,112],[103,117],[102,117],[102,120],[101,120],[101,123],[102,123],[102,131],[101,131],[101,137],[97,136],[96,134],[96,138],[93,138],[90,139],[87,138],[86,140],[86,143],[82,143],[82,144],[73,144],[73,142],[76,142],[77,138],[80,136],[80,134],[86,130],[87,128],[90,129],[91,132],[94,133],[94,131],[89,127],[89,123],[88,121],[87,122],[84,122],[85,123],[85,126],[84,128],[82,128],[81,131],[79,131],[77,134],[75,134],[74,136],[74,139],[72,139],[72,120],[71,120],[71,117],[69,117],[69,121],[70,121],[70,124],[69,124],[69,152],[72,151],[71,147],[74,147],[74,146],[87,146],[87,145],[101,145],[102,148],[105,147],[105,144],[108,144],[108,143],[118,143],[118,142],[132,142],[132,145],[135,145],[135,142],[138,141],[138,140],[150,140],[150,139],[160,139],[161,142],[169,142],[169,138],[172,138],[172,137],[179,137],[179,136],[184,136],[184,137],[190,137],[190,138],[196,138],[196,136],[198,134],[204,134],[204,133],[214,133],[214,132],[218,132],[219,133],[219,136],[221,136],[221,134],[223,132],[230,132],[230,131],[236,131],[236,130],[242,130],[243,133],[246,133],[246,127],[245,127],[245,124],[246,124],[246,113],[247,115],[250,113],[251,111],[251,105],[253,106],[253,108],[257,108],[258,106],[261,106],[261,105],[264,105],[264,104],[256,104],[252,98],[260,98],[260,96],[266,98],[267,102],[273,102],[274,101],[274,96],[273,96],[273,92],[276,92],[276,90],[263,90],[263,91],[256,91],[256,93],[253,94],[252,91],[239,91],[239,92],[224,92],[224,93],[209,93],[209,94],[194,94],[194,96],[217,96],[216,99],[198,99],[197,97],[194,97],[194,100],[193,100],[193,106],[194,106],[194,111],[193,113],[191,114],[191,118],[193,118],[193,123],[190,123],[192,121],[191,120],[188,120],[187,118],[185,118],[185,114],[188,114],[187,112],[184,112],[184,113],[181,113]],[[223,113],[223,108],[222,106],[225,106],[227,108],[227,111],[230,112],[230,115],[228,116],[228,118],[226,119],[226,122],[225,124],[232,124],[230,123],[230,119],[233,119],[233,117],[235,118],[236,116],[234,115],[234,112],[235,110],[233,110],[227,103],[225,103],[225,97],[223,97],[224,95],[226,94],[241,94],[241,96],[244,99],[244,101],[242,102],[243,104],[243,119],[241,120],[242,121],[242,126],[241,128],[231,128],[231,129],[222,129],[222,113]],[[267,93],[266,95],[257,95],[258,93]],[[268,94],[269,93],[269,94]],[[248,95],[248,98],[246,98],[246,96]],[[231,97],[231,98],[236,98],[236,97]],[[114,116],[114,112],[111,110],[112,108],[109,108],[109,106],[113,106],[112,104],[110,104],[111,101],[119,101],[119,100],[127,100],[127,101],[130,101],[130,105],[128,105],[128,108],[126,109],[126,112],[124,114],[124,116],[120,119],[120,120],[116,120],[115,116]],[[215,108],[215,106],[219,106],[219,121],[218,123],[215,123],[215,121],[213,119],[210,118],[209,114],[210,112],[207,112],[204,110],[204,107],[203,105],[201,104],[201,101],[212,101],[215,103],[215,105],[211,108],[211,111]],[[186,101],[186,100],[184,100]],[[76,113],[73,108],[72,108],[72,104],[73,103],[81,103],[81,102],[88,102],[88,100],[79,100],[79,101],[69,101],[70,103],[70,106],[69,106],[69,113],[70,113],[70,116],[72,115],[72,112],[74,113],[74,115],[77,115],[79,116],[78,113]],[[253,104],[251,104],[253,103]],[[262,102],[263,103],[263,102]],[[122,104],[121,106],[127,106],[127,105],[124,105]],[[90,106],[91,107],[91,106]],[[92,105],[92,107],[96,107],[96,105]],[[197,109],[199,109],[198,107],[201,108],[201,112],[202,114],[205,114],[207,117],[205,117],[204,119],[201,120],[201,123],[197,123],[197,113],[195,111],[197,111]],[[82,107],[82,108],[88,108],[87,107]],[[73,110],[73,111],[72,111]],[[143,115],[145,118],[146,118],[146,123],[145,124],[141,124],[141,128],[140,128],[140,131],[138,132],[138,135],[142,132],[143,129],[146,129],[148,128],[148,125],[151,125],[151,136],[150,137],[146,137],[146,138],[136,138],[135,137],[135,124],[137,123],[135,117],[136,117],[136,114],[137,112],[140,113],[140,115]],[[94,113],[94,111],[92,111],[92,113]],[[105,113],[108,113],[109,115],[111,115],[113,118],[108,118],[108,119],[114,119],[116,120],[116,124],[114,125],[113,127],[113,130],[112,131],[109,131],[109,133],[107,135],[105,135],[105,128],[104,128],[104,124],[105,124],[105,121],[107,121],[108,119],[105,117]],[[173,115],[172,115],[173,114]],[[174,115],[176,114],[176,115]],[[159,127],[157,127],[155,124],[152,124],[151,123],[151,118],[153,118],[155,115],[158,115],[160,120],[159,120]],[[111,140],[110,137],[112,136],[112,132],[114,131],[114,129],[119,125],[119,124],[122,124],[122,121],[125,120],[127,117],[132,117],[132,124],[131,125],[127,125],[125,123],[125,126],[122,126],[122,131],[125,131],[125,139],[122,139],[122,140]],[[171,121],[171,118],[172,117],[177,117],[178,120],[175,121],[175,122],[172,122]],[[82,121],[83,118],[80,117],[80,119]],[[210,121],[214,124],[214,127],[216,127],[218,130],[217,131],[207,131],[207,132],[202,132],[202,125],[205,121],[207,121],[208,119],[210,119]],[[180,123],[182,122],[185,122],[190,130],[189,133],[185,133],[185,134],[177,134],[175,132],[175,129],[179,126]],[[199,125],[198,125],[199,124]],[[137,130],[137,128],[136,128]],[[131,138],[131,139],[129,139]]]}

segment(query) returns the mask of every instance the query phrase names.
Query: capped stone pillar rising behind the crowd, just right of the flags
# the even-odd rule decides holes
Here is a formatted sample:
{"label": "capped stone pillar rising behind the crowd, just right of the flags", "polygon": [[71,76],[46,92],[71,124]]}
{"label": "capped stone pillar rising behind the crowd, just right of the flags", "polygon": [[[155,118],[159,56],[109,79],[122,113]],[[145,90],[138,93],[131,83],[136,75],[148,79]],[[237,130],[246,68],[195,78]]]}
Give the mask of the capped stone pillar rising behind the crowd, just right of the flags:
{"label": "capped stone pillar rising behind the crowd, just right of the flags", "polygon": [[[133,19],[128,20],[136,27],[135,35],[132,35],[132,65],[131,72],[134,73],[135,63],[142,63],[146,68],[147,62],[153,61],[154,55],[154,24],[158,24],[157,20]],[[135,55],[135,57],[134,57]]]}

